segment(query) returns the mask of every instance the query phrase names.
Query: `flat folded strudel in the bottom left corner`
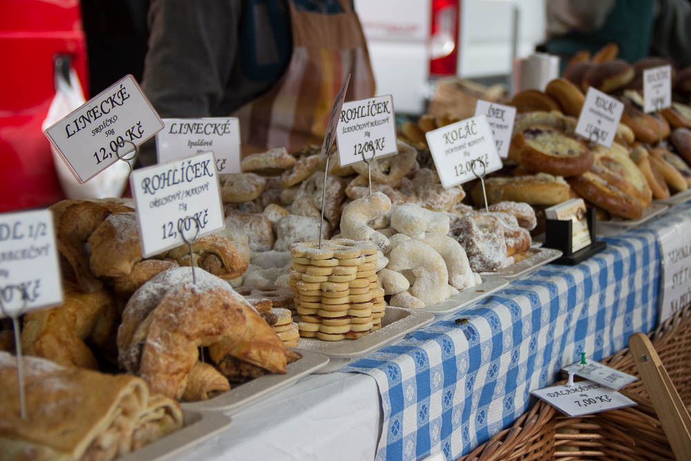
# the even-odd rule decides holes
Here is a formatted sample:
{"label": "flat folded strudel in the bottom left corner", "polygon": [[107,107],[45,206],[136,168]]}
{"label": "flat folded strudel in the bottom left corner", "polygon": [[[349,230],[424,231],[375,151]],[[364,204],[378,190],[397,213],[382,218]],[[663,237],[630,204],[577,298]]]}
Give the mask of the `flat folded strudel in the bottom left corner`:
{"label": "flat folded strudel in the bottom left corner", "polygon": [[23,357],[26,419],[17,361],[0,352],[0,458],[110,461],[182,427],[172,399],[129,375],[106,375]]}

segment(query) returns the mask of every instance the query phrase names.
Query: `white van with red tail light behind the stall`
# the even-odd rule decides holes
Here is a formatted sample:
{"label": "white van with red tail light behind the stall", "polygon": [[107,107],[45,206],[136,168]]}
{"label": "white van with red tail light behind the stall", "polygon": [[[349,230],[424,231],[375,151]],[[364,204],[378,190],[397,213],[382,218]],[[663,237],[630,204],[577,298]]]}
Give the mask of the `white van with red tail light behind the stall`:
{"label": "white van with red tail light behind the stall", "polygon": [[545,0],[354,0],[370,50],[377,94],[397,113],[424,113],[435,77],[498,77],[515,55],[545,37]]}

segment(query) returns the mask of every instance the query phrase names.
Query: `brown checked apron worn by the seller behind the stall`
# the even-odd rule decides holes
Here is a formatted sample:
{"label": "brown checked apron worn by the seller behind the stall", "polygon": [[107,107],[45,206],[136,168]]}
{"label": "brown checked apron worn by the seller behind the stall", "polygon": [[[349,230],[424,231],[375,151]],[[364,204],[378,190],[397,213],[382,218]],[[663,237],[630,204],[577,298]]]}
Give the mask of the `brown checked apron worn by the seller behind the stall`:
{"label": "brown checked apron worn by the seller behind the stall", "polygon": [[346,101],[375,94],[365,37],[349,0],[343,13],[298,11],[292,0],[293,52],[285,74],[269,91],[231,114],[240,119],[243,156],[272,147],[295,151],[321,144],[331,106],[350,73]]}

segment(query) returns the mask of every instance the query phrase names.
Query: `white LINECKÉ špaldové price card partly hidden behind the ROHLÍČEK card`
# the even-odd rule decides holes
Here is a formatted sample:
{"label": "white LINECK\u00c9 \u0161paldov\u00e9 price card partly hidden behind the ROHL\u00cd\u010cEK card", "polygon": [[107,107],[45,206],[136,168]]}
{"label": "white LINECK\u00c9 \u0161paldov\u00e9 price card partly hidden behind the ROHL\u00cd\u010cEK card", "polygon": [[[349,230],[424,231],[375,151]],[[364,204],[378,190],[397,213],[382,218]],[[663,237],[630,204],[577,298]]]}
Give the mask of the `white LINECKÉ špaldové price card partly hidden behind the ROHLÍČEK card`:
{"label": "white LINECK\u00c9 \u0161paldov\u00e9 price card partly hidden behind the ROHL\u00cd\u010cEK card", "polygon": [[240,120],[237,117],[164,118],[156,134],[159,163],[212,151],[218,173],[240,173]]}

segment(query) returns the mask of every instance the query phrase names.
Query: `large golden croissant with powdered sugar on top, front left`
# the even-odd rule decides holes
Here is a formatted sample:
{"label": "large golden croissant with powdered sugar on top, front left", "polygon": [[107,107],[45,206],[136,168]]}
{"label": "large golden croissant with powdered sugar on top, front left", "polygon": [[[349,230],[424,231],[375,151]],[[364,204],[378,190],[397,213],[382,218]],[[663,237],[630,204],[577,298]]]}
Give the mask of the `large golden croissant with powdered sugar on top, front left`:
{"label": "large golden croissant with powdered sugar on top, front left", "polygon": [[212,359],[236,354],[285,373],[285,347],[272,328],[227,282],[200,268],[195,275],[196,283],[189,267],[176,267],[132,295],[117,332],[121,366],[138,373],[153,391],[178,399],[199,347],[213,348]]}

